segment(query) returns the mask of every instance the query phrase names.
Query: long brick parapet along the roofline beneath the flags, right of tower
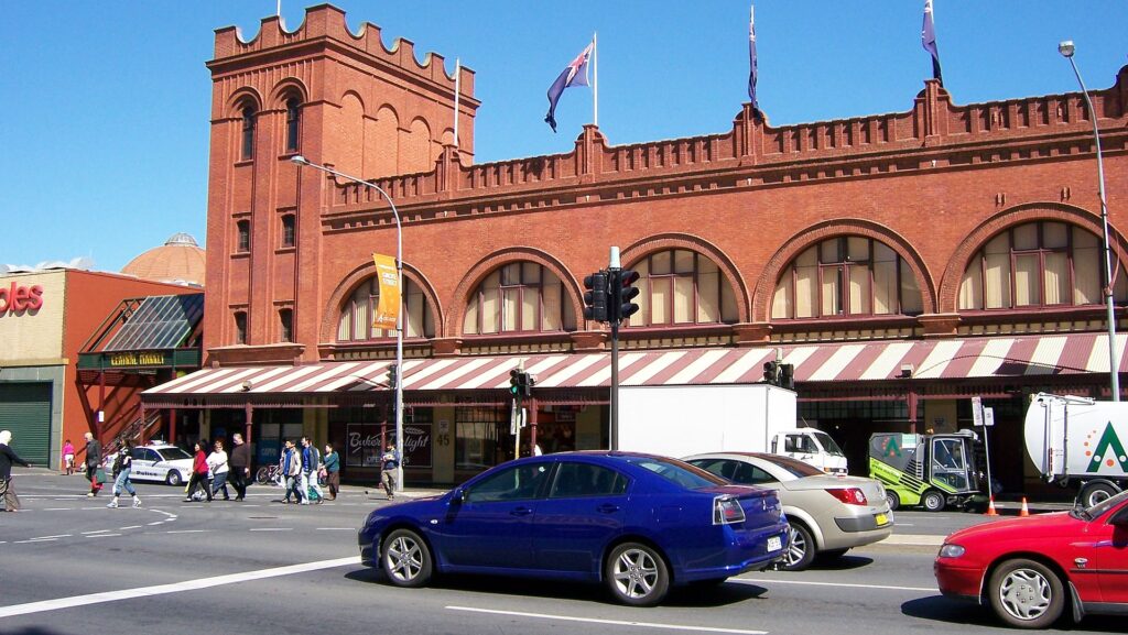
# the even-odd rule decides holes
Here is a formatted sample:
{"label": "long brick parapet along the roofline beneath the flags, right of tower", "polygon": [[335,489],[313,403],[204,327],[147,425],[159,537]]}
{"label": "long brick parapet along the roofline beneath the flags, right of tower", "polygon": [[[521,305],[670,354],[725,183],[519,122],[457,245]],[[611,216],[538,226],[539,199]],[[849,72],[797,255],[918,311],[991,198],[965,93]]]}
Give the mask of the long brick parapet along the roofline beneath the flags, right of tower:
{"label": "long brick parapet along the roofline beneath the flags, right of tower", "polygon": [[[1091,97],[1104,150],[1128,149],[1128,67]],[[722,134],[611,145],[589,125],[571,152],[470,166],[447,148],[434,171],[377,183],[398,206],[420,205],[425,220],[1049,159],[1091,152],[1091,135],[1079,92],[961,106],[928,80],[907,112],[772,126],[746,104]],[[384,206],[358,189],[337,186],[331,229]]]}

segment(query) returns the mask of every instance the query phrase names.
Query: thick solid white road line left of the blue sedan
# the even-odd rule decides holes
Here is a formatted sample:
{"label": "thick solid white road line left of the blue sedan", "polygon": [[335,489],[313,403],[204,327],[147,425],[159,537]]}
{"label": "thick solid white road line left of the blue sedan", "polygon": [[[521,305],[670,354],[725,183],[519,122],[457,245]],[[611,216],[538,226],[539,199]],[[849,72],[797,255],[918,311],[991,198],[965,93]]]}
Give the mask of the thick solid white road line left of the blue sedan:
{"label": "thick solid white road line left of the blue sedan", "polygon": [[122,591],[107,591],[103,593],[90,593],[88,596],[72,596],[70,598],[59,598],[56,600],[28,602],[26,605],[12,605],[10,607],[0,607],[0,618],[12,617],[17,615],[29,615],[34,612],[62,610],[74,607],[83,607],[87,605],[98,605],[103,602],[114,602],[117,600],[132,600],[135,598],[148,598],[152,596],[179,593],[183,591],[196,591],[200,589],[211,589],[212,587],[222,587],[224,584],[238,584],[240,582],[248,582],[252,580],[264,580],[267,577],[279,577],[282,575],[293,575],[297,573],[307,573],[310,571],[320,571],[323,568],[335,568],[338,566],[356,565],[356,564],[360,564],[360,556],[350,556],[347,558],[293,564],[275,568],[262,568],[258,571],[233,573],[230,575],[201,577],[197,580],[187,580],[185,582],[174,582],[173,584],[140,587],[136,589],[125,589]]}

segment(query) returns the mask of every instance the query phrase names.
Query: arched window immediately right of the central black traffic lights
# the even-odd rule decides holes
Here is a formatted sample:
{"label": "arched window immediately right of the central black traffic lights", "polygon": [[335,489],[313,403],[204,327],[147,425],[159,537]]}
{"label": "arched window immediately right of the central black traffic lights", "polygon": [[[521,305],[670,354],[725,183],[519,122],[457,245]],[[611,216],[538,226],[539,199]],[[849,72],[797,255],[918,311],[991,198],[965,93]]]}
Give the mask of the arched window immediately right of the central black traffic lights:
{"label": "arched window immediately right of the central black traffic lights", "polygon": [[716,263],[689,249],[655,252],[629,267],[638,272],[638,312],[629,326],[733,324],[737,298]]}

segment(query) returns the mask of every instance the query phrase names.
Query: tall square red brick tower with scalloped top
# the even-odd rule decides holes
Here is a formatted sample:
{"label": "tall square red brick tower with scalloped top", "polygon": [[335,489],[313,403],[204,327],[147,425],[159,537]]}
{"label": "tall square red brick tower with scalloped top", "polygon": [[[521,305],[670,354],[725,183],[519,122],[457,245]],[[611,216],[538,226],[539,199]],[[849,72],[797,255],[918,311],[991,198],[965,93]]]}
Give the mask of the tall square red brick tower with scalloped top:
{"label": "tall square red brick tower with scalloped top", "polygon": [[[307,9],[287,32],[265,18],[244,41],[215,32],[208,194],[208,361],[314,361],[319,306],[324,174],[290,158],[362,178],[435,169],[453,145],[455,78],[442,56],[386,48],[380,29],[353,34],[336,7]],[[474,156],[474,71],[462,68],[458,156]]]}

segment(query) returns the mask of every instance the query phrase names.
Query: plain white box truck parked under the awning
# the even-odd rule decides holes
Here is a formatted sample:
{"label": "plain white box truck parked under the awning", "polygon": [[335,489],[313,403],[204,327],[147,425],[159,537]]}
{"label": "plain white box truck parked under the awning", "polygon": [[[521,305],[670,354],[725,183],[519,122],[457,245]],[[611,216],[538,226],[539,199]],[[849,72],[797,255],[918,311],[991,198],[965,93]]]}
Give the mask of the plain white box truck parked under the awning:
{"label": "plain white box truck parked under the awning", "polygon": [[795,427],[795,393],[768,383],[620,386],[619,449],[667,457],[773,452],[846,474],[829,434]]}

